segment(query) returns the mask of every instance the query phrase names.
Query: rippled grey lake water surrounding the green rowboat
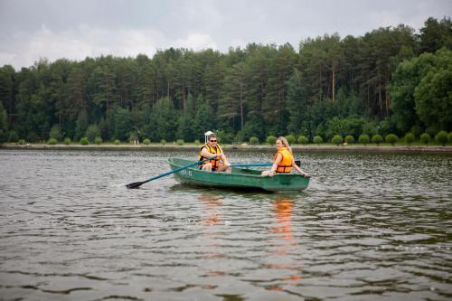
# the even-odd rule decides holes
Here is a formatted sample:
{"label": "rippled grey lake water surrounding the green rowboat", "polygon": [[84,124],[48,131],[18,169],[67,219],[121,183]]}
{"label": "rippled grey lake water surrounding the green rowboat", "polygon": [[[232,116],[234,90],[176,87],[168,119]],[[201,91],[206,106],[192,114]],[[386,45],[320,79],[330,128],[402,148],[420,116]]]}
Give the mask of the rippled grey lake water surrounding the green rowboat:
{"label": "rippled grey lake water surrounding the green rowboat", "polygon": [[127,190],[172,156],[195,159],[0,151],[0,299],[452,298],[452,155],[296,153],[312,175],[301,193],[173,175]]}

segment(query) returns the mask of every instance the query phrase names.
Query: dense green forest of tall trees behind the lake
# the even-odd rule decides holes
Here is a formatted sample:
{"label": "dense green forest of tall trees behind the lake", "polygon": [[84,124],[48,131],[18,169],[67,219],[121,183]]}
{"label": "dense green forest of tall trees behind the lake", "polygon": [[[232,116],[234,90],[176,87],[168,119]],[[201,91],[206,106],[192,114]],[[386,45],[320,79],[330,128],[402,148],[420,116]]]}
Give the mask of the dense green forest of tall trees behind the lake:
{"label": "dense green forest of tall trees behind the lake", "polygon": [[452,22],[228,53],[46,60],[0,69],[0,139],[53,136],[223,142],[273,135],[435,134],[452,129]]}

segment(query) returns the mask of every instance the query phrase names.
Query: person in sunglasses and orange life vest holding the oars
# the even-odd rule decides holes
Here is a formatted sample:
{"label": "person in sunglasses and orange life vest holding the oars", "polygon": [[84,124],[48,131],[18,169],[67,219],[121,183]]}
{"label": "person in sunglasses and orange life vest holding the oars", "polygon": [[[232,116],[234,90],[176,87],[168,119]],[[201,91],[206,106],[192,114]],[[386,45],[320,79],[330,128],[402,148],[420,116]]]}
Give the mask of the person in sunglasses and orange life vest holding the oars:
{"label": "person in sunglasses and orange life vest holding the oars", "polygon": [[215,134],[209,135],[207,137],[207,143],[200,148],[198,161],[216,155],[216,158],[203,162],[201,169],[207,172],[226,172],[229,174],[231,173],[231,165],[217,142],[217,136]]}

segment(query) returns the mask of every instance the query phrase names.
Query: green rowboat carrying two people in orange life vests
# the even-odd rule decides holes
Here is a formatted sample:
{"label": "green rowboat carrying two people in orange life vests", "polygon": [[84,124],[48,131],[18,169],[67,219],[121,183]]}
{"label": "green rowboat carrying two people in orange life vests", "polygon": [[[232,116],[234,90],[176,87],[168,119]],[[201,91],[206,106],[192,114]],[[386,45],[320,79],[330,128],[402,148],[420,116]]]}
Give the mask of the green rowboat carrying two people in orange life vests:
{"label": "green rowboat carrying two people in orange life vests", "polygon": [[[172,170],[195,163],[194,161],[170,158]],[[307,188],[309,177],[303,174],[276,174],[272,177],[261,176],[261,171],[250,168],[232,167],[231,174],[209,173],[199,169],[198,165],[174,173],[180,183],[199,186],[259,189],[269,192],[301,191]]]}

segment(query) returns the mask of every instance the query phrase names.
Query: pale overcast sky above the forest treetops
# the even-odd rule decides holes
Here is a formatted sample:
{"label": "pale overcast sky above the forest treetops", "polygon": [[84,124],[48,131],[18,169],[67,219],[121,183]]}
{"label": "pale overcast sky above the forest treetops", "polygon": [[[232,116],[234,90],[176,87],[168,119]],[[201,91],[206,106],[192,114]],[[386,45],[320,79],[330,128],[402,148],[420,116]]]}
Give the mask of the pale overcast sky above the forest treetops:
{"label": "pale overcast sky above the forest treetops", "polygon": [[452,0],[0,0],[0,66],[363,35],[452,14]]}

